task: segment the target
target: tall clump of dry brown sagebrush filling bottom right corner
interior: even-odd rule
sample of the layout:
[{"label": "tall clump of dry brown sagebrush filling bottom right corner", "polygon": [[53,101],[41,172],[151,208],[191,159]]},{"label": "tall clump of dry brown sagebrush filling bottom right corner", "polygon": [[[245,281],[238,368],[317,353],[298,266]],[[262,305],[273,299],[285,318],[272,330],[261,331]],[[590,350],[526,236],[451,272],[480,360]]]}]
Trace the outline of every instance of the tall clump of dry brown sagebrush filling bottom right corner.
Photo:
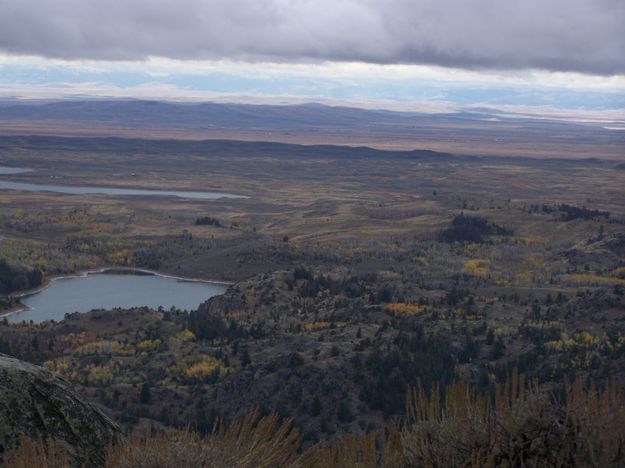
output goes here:
[{"label": "tall clump of dry brown sagebrush filling bottom right corner", "polygon": [[[603,390],[566,385],[559,404],[516,373],[494,396],[464,382],[408,396],[402,432],[405,466],[623,466],[625,396],[616,381]],[[441,398],[441,393],[444,397]]]}]

